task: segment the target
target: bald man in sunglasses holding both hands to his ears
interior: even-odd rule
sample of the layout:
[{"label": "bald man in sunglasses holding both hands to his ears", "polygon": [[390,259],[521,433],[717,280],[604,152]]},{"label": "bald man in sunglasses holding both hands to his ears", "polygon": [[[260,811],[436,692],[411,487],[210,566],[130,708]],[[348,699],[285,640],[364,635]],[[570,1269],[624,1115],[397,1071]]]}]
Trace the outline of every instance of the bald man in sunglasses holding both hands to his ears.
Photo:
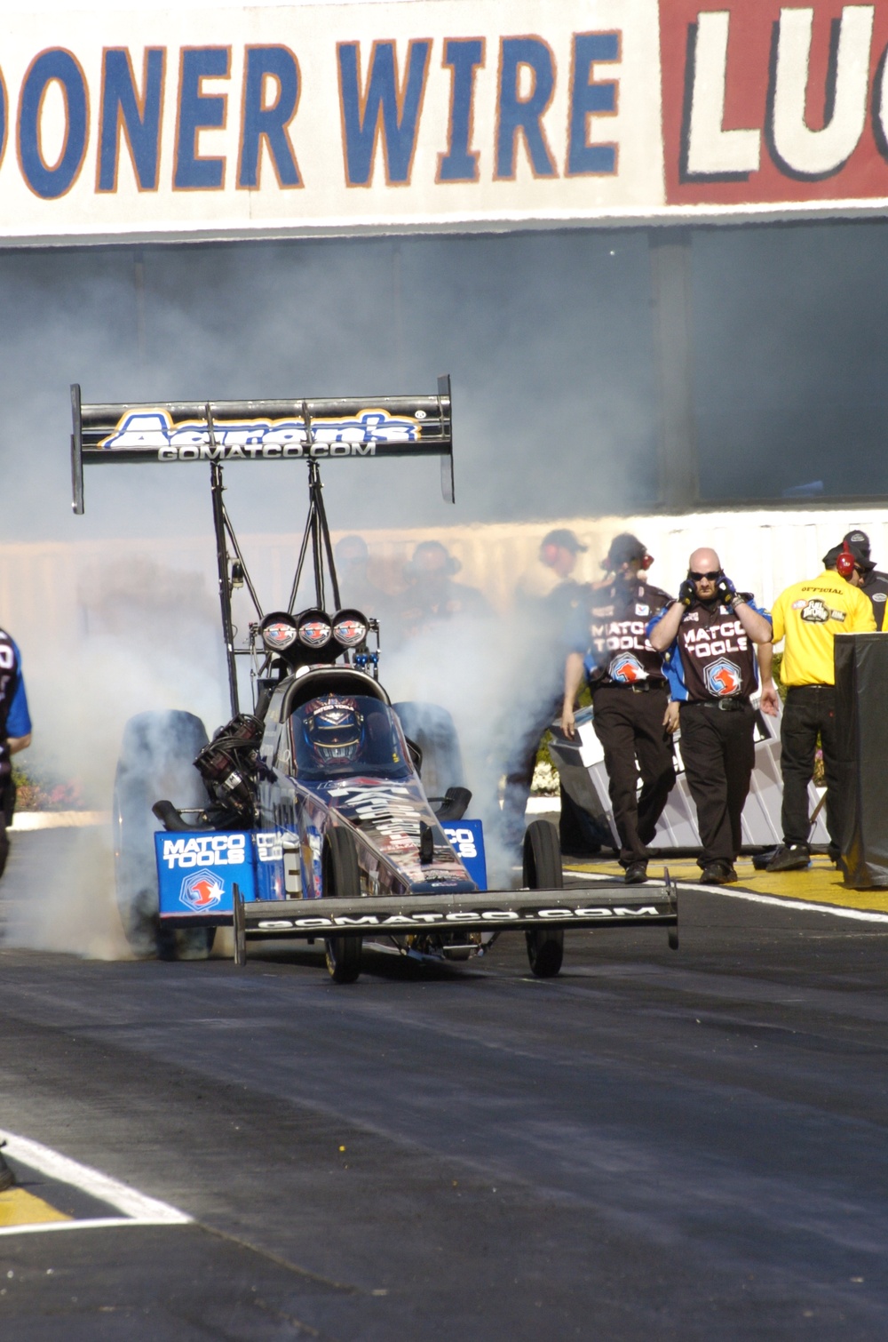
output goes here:
[{"label": "bald man in sunglasses holding both hands to his ears", "polygon": [[770,616],[738,592],[715,550],[695,550],[679,599],[648,624],[680,702],[681,758],[698,815],[700,882],[736,880],[740,816],[755,762],[755,643],[771,641]]}]

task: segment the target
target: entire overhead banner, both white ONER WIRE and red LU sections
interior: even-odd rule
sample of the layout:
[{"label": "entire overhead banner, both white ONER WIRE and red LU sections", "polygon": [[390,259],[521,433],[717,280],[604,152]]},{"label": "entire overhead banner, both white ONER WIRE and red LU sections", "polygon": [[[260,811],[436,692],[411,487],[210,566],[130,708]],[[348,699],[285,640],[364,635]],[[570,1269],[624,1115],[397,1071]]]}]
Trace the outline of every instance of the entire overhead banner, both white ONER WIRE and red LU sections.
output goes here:
[{"label": "entire overhead banner, both white ONER WIRE and red LU sections", "polygon": [[888,0],[4,19],[0,240],[885,213]]}]

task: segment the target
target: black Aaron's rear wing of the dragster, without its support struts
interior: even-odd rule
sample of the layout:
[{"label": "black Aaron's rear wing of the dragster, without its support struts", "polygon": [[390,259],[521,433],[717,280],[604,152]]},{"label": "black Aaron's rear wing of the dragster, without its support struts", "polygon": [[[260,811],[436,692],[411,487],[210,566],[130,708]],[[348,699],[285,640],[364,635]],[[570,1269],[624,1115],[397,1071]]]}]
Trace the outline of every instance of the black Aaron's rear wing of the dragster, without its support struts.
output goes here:
[{"label": "black Aaron's rear wing of the dragster, without its support struts", "polygon": [[453,502],[451,380],[432,396],[292,401],[150,401],[85,405],[71,386],[74,511],[83,513],[83,467],[180,462],[333,462],[440,456]]}]

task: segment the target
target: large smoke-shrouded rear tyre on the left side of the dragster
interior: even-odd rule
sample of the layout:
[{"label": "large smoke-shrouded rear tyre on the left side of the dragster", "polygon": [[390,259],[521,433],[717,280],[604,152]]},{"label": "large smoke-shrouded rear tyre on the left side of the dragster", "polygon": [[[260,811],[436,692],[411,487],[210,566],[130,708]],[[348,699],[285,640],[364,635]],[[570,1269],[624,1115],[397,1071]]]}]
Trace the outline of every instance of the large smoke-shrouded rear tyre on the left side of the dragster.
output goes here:
[{"label": "large smoke-shrouded rear tyre on the left side of the dragster", "polygon": [[158,824],[152,813],[161,798],[180,809],[207,805],[207,789],[193,765],[207,739],[193,713],[140,713],[123,727],[111,811],[114,887],[123,931],[137,956],[205,960],[213,943],[215,927],[173,931],[160,925]]}]

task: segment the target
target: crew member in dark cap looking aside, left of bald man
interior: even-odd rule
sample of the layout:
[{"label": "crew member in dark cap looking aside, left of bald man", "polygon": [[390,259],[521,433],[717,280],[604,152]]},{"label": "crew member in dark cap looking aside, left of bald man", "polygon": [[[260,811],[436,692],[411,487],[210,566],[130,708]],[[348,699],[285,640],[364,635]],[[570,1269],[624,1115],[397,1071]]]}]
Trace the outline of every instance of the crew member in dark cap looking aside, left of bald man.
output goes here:
[{"label": "crew member in dark cap looking aside, left of bald man", "polygon": [[585,629],[567,656],[561,719],[565,735],[573,737],[574,701],[585,674],[629,886],[648,879],[647,845],[675,784],[671,734],[677,705],[669,703],[663,659],[645,636],[648,620],[672,597],[645,581],[651,562],[637,537],[622,534],[612,542],[602,565],[610,582],[592,593]]}]

